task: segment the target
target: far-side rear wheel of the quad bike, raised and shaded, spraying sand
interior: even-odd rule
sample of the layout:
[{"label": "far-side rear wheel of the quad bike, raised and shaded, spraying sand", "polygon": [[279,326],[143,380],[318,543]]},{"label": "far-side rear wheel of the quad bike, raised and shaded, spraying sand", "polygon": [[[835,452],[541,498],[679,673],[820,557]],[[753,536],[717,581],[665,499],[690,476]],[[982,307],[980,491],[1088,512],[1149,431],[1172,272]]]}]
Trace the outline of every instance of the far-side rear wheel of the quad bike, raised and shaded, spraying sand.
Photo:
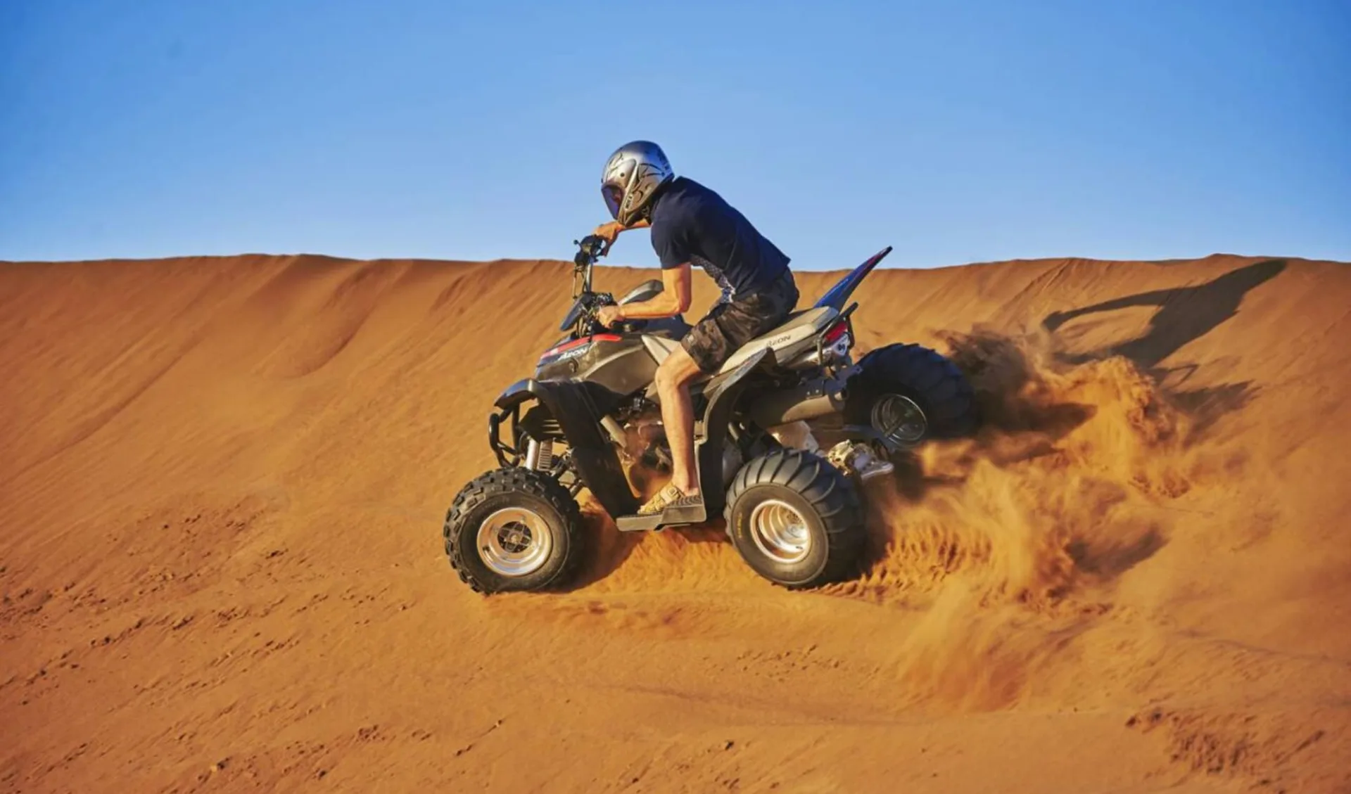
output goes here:
[{"label": "far-side rear wheel of the quad bike, raised and shaded, spraying sand", "polygon": [[844,423],[873,428],[893,450],[961,438],[979,424],[971,383],[928,347],[889,344],[865,355],[859,366],[844,401]]}]

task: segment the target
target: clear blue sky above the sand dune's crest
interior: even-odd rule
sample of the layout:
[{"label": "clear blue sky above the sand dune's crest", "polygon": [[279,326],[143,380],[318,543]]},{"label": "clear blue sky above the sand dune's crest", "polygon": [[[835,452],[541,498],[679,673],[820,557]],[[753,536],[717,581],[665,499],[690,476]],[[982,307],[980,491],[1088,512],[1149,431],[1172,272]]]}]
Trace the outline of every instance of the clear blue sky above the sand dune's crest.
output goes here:
[{"label": "clear blue sky above the sand dune's crest", "polygon": [[800,267],[1351,261],[1351,3],[0,3],[0,259],[566,258],[635,138]]}]

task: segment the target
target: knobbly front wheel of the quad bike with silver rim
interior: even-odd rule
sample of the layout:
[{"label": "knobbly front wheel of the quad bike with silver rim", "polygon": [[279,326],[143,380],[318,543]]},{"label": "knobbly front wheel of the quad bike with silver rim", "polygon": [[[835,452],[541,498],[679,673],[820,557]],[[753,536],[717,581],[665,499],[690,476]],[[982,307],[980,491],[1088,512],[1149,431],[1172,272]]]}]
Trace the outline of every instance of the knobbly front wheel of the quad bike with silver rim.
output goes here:
[{"label": "knobbly front wheel of the quad bike with silver rim", "polygon": [[471,479],[446,513],[443,535],[451,567],[480,593],[566,583],[585,552],[577,500],[531,469]]}]

